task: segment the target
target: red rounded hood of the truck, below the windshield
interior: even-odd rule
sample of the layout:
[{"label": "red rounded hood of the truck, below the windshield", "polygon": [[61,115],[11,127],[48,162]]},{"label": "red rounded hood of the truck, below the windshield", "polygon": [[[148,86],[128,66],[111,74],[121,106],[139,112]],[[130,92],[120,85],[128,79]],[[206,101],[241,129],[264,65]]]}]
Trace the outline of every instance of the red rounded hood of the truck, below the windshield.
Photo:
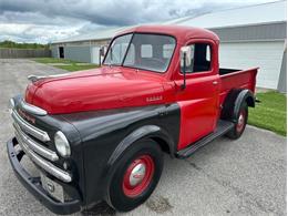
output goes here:
[{"label": "red rounded hood of the truck, below the windshield", "polygon": [[164,78],[103,66],[30,83],[25,101],[49,114],[161,104]]}]

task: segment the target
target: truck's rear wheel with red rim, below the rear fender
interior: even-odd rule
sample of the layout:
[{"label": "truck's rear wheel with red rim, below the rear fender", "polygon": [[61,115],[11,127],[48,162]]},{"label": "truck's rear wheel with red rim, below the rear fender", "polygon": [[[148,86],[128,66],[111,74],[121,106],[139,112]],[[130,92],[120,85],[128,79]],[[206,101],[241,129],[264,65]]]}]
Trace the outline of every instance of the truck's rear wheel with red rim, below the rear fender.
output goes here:
[{"label": "truck's rear wheel with red rim, below the rear fender", "polygon": [[[244,114],[244,116],[243,116],[243,114]],[[243,120],[240,120],[240,115],[243,116]],[[235,123],[233,130],[229,131],[226,134],[226,136],[228,136],[232,140],[239,138],[241,136],[243,132],[245,131],[247,120],[248,120],[248,105],[246,102],[244,102],[240,106],[239,113],[237,114],[237,123]],[[241,121],[243,121],[243,123],[240,123]]]}]

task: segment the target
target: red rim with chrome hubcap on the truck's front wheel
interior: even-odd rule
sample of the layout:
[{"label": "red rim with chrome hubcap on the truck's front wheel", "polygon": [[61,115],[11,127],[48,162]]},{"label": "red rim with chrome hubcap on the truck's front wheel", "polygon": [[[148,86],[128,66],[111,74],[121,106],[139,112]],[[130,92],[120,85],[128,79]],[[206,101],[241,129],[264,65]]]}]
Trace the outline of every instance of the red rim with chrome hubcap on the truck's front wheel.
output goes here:
[{"label": "red rim with chrome hubcap on the truck's front wheel", "polygon": [[136,197],[150,185],[155,165],[150,155],[142,155],[134,160],[126,169],[122,188],[126,196]]}]

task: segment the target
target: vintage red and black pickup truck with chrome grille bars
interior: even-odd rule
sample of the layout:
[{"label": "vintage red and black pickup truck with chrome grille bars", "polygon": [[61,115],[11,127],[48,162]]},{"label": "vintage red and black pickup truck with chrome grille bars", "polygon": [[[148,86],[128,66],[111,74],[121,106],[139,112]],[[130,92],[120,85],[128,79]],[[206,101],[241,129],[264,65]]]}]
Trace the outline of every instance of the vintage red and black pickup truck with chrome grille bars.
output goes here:
[{"label": "vintage red and black pickup truck with chrome grille bars", "polygon": [[[99,69],[30,76],[10,101],[16,175],[56,214],[101,200],[135,208],[155,189],[163,154],[185,158],[243,134],[258,69],[219,68],[218,48],[208,30],[136,27],[111,41]],[[39,176],[20,164],[24,155]]]}]

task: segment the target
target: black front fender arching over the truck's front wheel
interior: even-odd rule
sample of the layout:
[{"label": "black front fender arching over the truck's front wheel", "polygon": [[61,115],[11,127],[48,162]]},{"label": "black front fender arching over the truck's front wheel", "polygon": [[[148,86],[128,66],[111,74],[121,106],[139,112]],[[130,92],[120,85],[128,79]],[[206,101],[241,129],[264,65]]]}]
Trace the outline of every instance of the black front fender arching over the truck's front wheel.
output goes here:
[{"label": "black front fender arching over the truck's front wheel", "polygon": [[111,168],[135,141],[157,138],[174,154],[179,136],[179,112],[178,104],[174,103],[64,115],[82,140],[86,205],[105,198]]}]

